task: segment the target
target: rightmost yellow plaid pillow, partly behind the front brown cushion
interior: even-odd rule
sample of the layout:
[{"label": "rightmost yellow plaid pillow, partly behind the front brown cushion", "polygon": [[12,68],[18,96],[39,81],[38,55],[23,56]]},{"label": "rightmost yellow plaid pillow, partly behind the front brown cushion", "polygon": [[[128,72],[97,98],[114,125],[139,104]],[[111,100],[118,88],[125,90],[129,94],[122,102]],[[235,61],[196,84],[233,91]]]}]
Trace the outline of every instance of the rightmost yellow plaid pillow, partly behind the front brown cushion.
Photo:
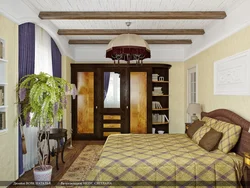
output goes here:
[{"label": "rightmost yellow plaid pillow, partly behind the front brown cushion", "polygon": [[224,121],[217,121],[212,125],[216,131],[222,132],[223,136],[219,142],[218,149],[228,153],[239,140],[241,127]]}]

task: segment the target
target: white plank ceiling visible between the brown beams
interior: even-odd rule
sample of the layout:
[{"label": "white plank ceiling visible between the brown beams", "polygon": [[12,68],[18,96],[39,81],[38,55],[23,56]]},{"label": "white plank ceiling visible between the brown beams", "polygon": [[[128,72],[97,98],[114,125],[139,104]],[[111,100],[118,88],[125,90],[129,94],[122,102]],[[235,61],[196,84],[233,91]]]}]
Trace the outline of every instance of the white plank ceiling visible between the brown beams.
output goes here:
[{"label": "white plank ceiling visible between the brown beams", "polygon": [[[226,11],[245,0],[23,0],[40,11]],[[209,29],[217,20],[130,20],[131,29]],[[51,20],[58,29],[126,29],[126,20]],[[114,36],[66,36],[112,39]],[[192,39],[197,36],[143,36],[145,39]]]}]

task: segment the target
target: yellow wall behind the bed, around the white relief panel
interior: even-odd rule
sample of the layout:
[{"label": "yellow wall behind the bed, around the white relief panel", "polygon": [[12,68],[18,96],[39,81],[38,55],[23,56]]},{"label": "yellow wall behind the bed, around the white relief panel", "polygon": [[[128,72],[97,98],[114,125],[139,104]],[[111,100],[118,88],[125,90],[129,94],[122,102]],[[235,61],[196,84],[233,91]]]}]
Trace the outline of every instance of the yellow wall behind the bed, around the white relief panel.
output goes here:
[{"label": "yellow wall behind the bed, around the white relief panel", "polygon": [[[214,62],[247,49],[250,49],[250,27],[233,34],[185,62],[185,79],[187,78],[187,69],[198,64],[198,102],[202,104],[204,111],[226,108],[250,120],[250,96],[215,96],[213,94]],[[187,82],[184,83],[186,109]]]}]

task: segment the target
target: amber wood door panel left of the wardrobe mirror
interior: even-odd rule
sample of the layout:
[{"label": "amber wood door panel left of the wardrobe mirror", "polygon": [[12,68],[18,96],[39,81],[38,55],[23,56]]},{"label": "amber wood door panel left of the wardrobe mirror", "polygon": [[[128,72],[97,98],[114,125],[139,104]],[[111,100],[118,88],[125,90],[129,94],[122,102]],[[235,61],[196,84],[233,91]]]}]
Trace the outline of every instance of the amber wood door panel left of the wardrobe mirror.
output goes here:
[{"label": "amber wood door panel left of the wardrobe mirror", "polygon": [[77,73],[77,133],[94,133],[94,72]]}]

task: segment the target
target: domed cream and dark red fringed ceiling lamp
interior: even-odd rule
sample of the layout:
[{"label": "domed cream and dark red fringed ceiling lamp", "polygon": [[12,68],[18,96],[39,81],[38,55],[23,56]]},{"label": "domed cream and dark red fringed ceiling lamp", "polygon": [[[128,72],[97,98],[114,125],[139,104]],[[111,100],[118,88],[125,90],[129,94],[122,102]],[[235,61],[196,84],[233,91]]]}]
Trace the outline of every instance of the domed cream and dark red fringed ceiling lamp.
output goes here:
[{"label": "domed cream and dark red fringed ceiling lamp", "polygon": [[[139,35],[129,34],[131,22],[126,22],[128,34],[121,34],[112,39],[106,50],[106,58],[114,60],[114,64],[120,64],[121,60],[135,60],[136,64],[143,64],[143,60],[151,57],[148,43]],[[117,61],[117,62],[116,62]]]}]

